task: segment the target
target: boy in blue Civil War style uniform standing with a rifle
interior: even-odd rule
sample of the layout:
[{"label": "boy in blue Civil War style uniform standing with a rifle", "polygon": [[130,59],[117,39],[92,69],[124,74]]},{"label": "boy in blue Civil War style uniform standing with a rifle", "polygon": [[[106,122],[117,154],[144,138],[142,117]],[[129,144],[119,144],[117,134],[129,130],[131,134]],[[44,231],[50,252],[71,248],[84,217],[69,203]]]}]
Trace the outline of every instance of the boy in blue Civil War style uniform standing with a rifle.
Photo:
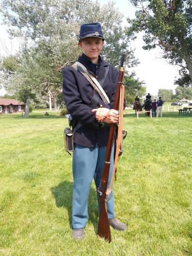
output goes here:
[{"label": "boy in blue Civil War style uniform standing with a rifle", "polygon": [[[69,113],[79,124],[74,133],[73,152],[73,201],[72,228],[73,238],[84,237],[84,227],[88,220],[87,200],[94,178],[96,188],[100,186],[104,166],[106,146],[109,135],[109,124],[118,122],[119,113],[112,109],[119,72],[100,56],[104,37],[99,23],[82,24],[80,29],[79,47],[83,50],[78,61],[97,79],[103,82],[103,89],[110,103],[105,104],[100,98],[90,107],[95,91],[88,80],[73,67],[63,70],[63,94]],[[108,71],[107,71],[108,70]],[[107,73],[106,73],[107,72]],[[114,150],[114,147],[113,147]],[[111,179],[113,171],[113,152],[111,152]],[[100,202],[98,199],[98,207]],[[117,230],[127,226],[115,218],[113,193],[107,201],[110,225]]]}]

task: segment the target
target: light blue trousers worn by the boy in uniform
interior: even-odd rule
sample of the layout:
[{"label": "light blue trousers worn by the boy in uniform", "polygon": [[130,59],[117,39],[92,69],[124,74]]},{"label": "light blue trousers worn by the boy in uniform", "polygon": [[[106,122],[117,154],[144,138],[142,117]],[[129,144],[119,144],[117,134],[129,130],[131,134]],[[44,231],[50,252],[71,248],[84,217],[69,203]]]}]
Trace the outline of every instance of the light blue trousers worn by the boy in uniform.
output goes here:
[{"label": "light blue trousers worn by the boy in uniform", "polygon": [[[114,166],[114,146],[110,157],[110,175],[108,187],[112,177]],[[72,202],[72,228],[84,228],[88,220],[88,197],[91,183],[94,178],[96,188],[100,186],[101,176],[104,167],[106,147],[85,147],[79,144],[74,145],[73,152],[73,202]],[[98,208],[100,201],[97,195]],[[107,201],[108,217],[115,217],[113,191]]]}]

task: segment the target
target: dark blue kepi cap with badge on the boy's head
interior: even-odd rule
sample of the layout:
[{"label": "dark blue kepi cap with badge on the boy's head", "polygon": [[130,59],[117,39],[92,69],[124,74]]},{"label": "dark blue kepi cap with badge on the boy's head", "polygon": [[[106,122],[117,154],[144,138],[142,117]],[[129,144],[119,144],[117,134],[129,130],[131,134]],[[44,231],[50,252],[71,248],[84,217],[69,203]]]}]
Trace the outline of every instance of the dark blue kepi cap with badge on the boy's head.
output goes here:
[{"label": "dark blue kepi cap with badge on the boy's head", "polygon": [[98,37],[102,40],[105,39],[101,30],[100,23],[87,23],[81,25],[79,42],[88,37]]}]

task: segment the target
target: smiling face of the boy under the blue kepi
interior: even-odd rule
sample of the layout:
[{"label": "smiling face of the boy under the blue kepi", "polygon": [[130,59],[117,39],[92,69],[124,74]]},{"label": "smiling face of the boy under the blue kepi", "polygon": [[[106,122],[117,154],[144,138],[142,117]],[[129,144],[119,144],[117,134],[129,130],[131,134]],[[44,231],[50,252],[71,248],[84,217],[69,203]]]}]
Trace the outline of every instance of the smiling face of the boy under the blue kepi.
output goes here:
[{"label": "smiling face of the boy under the blue kepi", "polygon": [[92,62],[98,61],[98,56],[103,47],[104,41],[97,37],[88,37],[78,43],[84,54],[91,59]]}]

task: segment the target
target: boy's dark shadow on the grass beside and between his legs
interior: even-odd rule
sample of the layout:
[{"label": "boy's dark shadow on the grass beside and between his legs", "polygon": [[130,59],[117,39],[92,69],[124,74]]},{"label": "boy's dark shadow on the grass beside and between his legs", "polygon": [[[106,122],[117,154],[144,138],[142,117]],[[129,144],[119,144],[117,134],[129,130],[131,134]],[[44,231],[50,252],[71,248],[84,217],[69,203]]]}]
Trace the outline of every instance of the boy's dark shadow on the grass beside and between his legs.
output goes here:
[{"label": "boy's dark shadow on the grass beside and between his legs", "polygon": [[[70,225],[71,225],[71,214],[72,214],[72,191],[73,191],[73,183],[69,181],[63,181],[59,183],[59,185],[51,188],[51,192],[55,198],[56,206],[58,208],[63,207],[68,210]],[[96,191],[92,187],[89,193],[88,213],[89,213],[89,222],[93,224],[95,232],[97,232],[98,204],[96,200]]]}]

